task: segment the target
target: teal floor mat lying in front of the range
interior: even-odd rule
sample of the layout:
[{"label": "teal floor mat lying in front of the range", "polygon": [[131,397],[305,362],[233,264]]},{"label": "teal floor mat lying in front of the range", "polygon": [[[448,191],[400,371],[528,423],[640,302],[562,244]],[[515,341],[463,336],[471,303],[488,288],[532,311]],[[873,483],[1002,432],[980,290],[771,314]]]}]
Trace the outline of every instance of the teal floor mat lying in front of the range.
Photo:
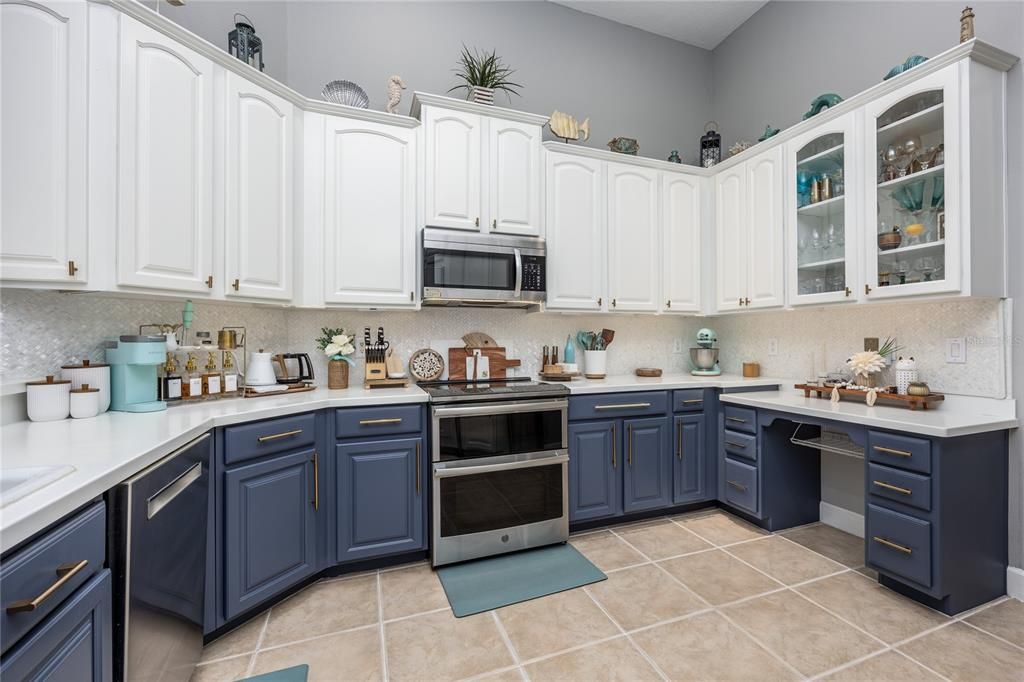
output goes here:
[{"label": "teal floor mat lying in front of the range", "polygon": [[460,619],[608,579],[568,543],[441,566],[437,577]]}]

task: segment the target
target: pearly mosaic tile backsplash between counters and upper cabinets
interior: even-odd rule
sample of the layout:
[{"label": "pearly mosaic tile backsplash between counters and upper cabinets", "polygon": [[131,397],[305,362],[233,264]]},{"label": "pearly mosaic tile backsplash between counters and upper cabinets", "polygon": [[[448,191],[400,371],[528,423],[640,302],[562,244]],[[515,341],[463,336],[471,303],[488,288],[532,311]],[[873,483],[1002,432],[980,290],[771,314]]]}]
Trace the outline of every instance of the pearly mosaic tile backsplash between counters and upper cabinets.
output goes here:
[{"label": "pearly mosaic tile backsplash between counters and upper cabinets", "polygon": [[[2,383],[33,380],[59,371],[82,357],[102,358],[102,341],[134,334],[144,323],[177,323],[180,300],[144,300],[106,295],[4,290],[0,296],[0,375]],[[518,310],[425,308],[420,311],[298,310],[273,306],[196,301],[195,329],[216,331],[225,325],[245,326],[249,349],[307,352],[318,382],[327,376],[327,360],[314,339],[322,327],[343,327],[361,339],[362,328],[384,327],[396,352],[410,354],[427,346],[444,353],[461,345],[473,331],[490,334],[510,357],[522,359],[520,375],[540,369],[542,346],[562,348],[578,330],[615,330],[608,353],[609,374],[629,374],[638,367],[658,367],[667,373],[689,369],[688,352],[673,352],[676,340],[693,345],[696,331],[718,333],[725,372],[739,373],[743,360],[758,360],[765,376],[807,378],[831,370],[862,347],[868,336],[895,336],[906,354],[918,359],[921,376],[934,390],[985,397],[1006,397],[1007,339],[1002,305],[994,300],[852,305],[677,317],[641,314],[525,313]],[[945,363],[945,339],[968,339],[967,363]],[[768,355],[768,340],[778,340],[778,354]],[[362,350],[359,348],[359,357]],[[352,375],[361,378],[361,364]]]}]

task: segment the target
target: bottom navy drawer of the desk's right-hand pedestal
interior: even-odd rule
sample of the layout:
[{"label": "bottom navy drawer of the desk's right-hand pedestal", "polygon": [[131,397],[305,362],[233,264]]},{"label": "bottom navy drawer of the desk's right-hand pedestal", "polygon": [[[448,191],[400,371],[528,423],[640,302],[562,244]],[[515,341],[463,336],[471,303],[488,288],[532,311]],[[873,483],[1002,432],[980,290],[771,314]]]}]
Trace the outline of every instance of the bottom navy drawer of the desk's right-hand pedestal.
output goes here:
[{"label": "bottom navy drawer of the desk's right-hand pedestal", "polygon": [[867,505],[867,563],[925,587],[932,587],[932,524]]}]

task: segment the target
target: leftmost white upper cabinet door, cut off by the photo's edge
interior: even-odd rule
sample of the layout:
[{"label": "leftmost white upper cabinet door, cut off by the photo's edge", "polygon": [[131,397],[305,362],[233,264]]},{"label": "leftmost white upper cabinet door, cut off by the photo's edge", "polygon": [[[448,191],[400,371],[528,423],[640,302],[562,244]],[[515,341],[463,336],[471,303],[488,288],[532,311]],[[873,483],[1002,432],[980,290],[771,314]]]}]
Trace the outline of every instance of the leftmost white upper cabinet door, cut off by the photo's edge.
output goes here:
[{"label": "leftmost white upper cabinet door, cut off by the photo's edge", "polygon": [[0,279],[87,279],[87,5],[0,3]]}]

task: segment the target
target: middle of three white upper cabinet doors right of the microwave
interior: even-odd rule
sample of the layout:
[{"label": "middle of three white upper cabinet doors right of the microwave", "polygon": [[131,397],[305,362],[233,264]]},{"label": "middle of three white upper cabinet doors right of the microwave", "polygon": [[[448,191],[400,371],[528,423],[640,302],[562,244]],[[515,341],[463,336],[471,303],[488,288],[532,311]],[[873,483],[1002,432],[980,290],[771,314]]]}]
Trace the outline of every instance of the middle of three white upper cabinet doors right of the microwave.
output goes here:
[{"label": "middle of three white upper cabinet doors right of the microwave", "polygon": [[610,310],[658,307],[658,176],[626,164],[607,164],[608,296]]}]

